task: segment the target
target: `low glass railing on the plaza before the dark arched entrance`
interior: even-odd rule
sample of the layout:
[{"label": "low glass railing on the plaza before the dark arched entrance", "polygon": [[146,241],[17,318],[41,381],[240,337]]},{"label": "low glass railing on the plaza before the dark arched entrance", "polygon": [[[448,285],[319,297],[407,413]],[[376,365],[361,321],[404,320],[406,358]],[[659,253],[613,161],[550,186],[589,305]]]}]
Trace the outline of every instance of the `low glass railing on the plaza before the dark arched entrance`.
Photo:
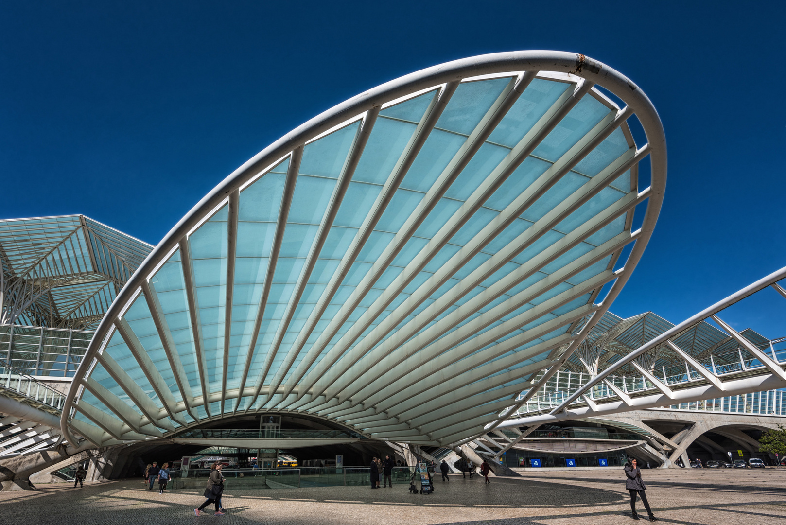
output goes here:
[{"label": "low glass railing on the plaza before the dark arched entrance", "polygon": [[[208,468],[171,472],[171,488],[204,489],[211,470]],[[393,483],[410,483],[414,467],[394,467]],[[300,467],[300,468],[224,468],[225,490],[292,489],[302,486],[370,486],[369,467]],[[382,473],[380,472],[380,481]]]}]

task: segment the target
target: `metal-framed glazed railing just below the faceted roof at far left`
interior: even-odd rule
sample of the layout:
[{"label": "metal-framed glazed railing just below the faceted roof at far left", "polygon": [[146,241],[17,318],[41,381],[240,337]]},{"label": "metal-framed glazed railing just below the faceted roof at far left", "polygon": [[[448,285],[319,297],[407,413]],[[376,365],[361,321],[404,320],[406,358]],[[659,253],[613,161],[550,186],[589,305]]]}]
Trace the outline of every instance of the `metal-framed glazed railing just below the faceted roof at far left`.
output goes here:
[{"label": "metal-framed glazed railing just below the faceted roof at far left", "polygon": [[72,377],[94,332],[0,325],[0,361],[30,376]]}]

